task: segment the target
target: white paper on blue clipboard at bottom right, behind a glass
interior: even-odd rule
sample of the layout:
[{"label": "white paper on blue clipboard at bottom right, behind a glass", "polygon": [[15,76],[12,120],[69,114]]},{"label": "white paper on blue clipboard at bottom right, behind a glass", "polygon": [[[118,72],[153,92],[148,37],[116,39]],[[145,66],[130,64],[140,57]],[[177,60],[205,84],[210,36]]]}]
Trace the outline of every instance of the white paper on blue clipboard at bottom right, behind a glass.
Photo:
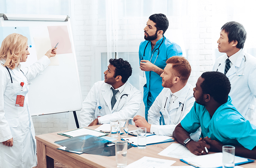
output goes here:
[{"label": "white paper on blue clipboard at bottom right, behind a glass", "polygon": [[[204,168],[215,168],[222,167],[222,153],[213,153],[207,155],[201,155],[191,158],[185,158],[183,161],[187,162],[190,165],[195,167],[204,167]],[[235,164],[248,162],[248,159],[235,156]]]}]

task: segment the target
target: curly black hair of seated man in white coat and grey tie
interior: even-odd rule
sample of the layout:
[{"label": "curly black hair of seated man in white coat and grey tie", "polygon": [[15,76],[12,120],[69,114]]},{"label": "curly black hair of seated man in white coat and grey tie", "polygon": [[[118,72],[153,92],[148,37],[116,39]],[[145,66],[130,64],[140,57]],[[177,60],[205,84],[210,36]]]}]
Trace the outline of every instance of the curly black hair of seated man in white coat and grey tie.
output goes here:
[{"label": "curly black hair of seated man in white coat and grey tie", "polygon": [[110,59],[109,63],[115,67],[114,78],[118,75],[122,77],[122,82],[125,83],[128,78],[132,75],[132,67],[128,61],[122,58]]}]

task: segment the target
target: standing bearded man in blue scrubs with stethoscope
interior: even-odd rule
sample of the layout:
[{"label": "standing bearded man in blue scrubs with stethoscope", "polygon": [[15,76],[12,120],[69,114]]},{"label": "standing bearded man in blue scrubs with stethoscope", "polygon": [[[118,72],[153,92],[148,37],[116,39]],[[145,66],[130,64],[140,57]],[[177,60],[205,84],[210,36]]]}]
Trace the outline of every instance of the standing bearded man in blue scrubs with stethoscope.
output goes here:
[{"label": "standing bearded man in blue scrubs with stethoscope", "polygon": [[172,56],[182,56],[180,46],[164,37],[168,26],[169,21],[164,14],[151,15],[144,28],[145,41],[140,44],[140,68],[145,71],[147,78],[143,95],[147,121],[148,110],[163,89],[160,75],[164,71],[167,59]]}]

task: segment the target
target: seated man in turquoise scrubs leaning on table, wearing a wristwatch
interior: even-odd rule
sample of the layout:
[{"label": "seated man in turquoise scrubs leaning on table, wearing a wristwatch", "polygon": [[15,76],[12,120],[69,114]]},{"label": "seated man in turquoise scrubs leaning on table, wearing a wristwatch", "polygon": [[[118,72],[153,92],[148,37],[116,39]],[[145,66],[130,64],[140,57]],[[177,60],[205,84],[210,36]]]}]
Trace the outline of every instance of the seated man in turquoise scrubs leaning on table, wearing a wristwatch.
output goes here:
[{"label": "seated man in turquoise scrubs leaning on table, wearing a wristwatch", "polygon": [[[173,132],[173,137],[195,155],[222,152],[223,145],[236,147],[237,156],[256,159],[256,126],[238,112],[228,95],[229,79],[221,72],[205,72],[197,80],[195,103]],[[189,134],[202,129],[198,142]]]}]

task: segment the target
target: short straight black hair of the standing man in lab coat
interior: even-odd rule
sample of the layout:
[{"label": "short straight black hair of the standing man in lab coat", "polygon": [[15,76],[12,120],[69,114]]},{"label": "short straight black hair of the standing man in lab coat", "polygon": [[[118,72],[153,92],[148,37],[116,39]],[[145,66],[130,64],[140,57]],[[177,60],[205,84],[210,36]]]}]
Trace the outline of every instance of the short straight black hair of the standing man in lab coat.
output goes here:
[{"label": "short straight black hair of the standing man in lab coat", "polygon": [[222,26],[221,30],[224,30],[228,34],[229,43],[236,40],[236,47],[239,49],[244,48],[247,33],[241,23],[234,21],[228,22]]}]

